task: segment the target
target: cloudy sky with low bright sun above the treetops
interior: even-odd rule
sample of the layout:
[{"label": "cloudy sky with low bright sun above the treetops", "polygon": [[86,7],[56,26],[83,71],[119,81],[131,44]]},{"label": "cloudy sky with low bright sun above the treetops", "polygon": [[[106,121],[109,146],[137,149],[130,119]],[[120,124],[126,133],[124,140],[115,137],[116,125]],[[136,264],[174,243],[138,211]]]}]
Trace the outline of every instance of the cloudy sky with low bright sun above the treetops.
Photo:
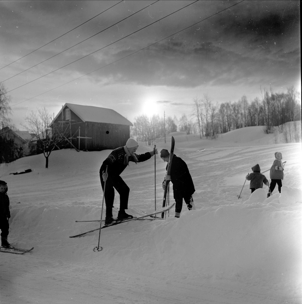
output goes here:
[{"label": "cloudy sky with low bright sun above the treetops", "polygon": [[0,1],[0,82],[21,130],[31,111],[57,115],[66,102],[133,123],[190,118],[204,94],[221,103],[300,91],[300,3]]}]

